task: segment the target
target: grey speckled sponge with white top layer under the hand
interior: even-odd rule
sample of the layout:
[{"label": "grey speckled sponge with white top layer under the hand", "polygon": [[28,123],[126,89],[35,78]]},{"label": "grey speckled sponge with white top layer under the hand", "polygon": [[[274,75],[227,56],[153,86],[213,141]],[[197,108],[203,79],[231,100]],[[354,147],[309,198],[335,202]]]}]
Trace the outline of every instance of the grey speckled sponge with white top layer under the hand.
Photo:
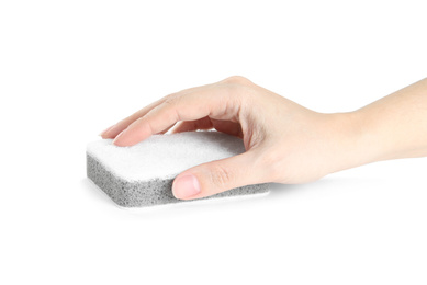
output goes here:
[{"label": "grey speckled sponge with white top layer under the hand", "polygon": [[[87,173],[120,206],[177,203],[183,201],[172,195],[171,186],[180,172],[244,151],[241,139],[218,132],[155,135],[132,147],[100,139],[87,147]],[[266,192],[268,184],[256,184],[200,200]]]}]

